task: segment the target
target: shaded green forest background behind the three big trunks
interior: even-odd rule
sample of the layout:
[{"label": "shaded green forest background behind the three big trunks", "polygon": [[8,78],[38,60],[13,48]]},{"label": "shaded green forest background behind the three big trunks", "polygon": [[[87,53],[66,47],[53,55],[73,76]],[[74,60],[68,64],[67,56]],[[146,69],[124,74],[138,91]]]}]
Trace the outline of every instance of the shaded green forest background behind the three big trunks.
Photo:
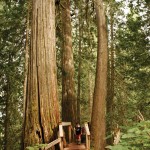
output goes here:
[{"label": "shaded green forest background behind the three big trunks", "polygon": [[[109,135],[117,124],[132,126],[140,121],[138,112],[145,120],[150,119],[150,3],[148,0],[105,0],[104,5],[109,52],[106,118]],[[56,3],[60,103],[62,7],[61,2]],[[96,14],[92,0],[71,0],[70,8],[75,95],[79,97],[82,124],[91,120],[97,58]],[[28,1],[0,1],[0,149],[7,145],[7,150],[17,150],[21,145],[28,13]]]}]

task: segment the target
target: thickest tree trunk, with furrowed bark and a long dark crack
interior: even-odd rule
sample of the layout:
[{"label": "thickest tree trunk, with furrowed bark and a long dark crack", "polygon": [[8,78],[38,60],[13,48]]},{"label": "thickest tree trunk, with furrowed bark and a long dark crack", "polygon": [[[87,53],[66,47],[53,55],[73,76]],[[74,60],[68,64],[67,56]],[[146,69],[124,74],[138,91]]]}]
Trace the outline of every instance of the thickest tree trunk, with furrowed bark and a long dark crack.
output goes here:
[{"label": "thickest tree trunk, with furrowed bark and a long dark crack", "polygon": [[32,1],[31,31],[24,149],[53,140],[59,122],[54,0]]}]

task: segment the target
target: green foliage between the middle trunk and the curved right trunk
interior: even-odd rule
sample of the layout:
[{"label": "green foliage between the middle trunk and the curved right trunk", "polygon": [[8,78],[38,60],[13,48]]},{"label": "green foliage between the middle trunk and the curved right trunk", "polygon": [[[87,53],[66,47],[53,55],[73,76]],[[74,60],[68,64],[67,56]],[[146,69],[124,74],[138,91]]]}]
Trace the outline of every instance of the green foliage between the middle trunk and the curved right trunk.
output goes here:
[{"label": "green foliage between the middle trunk and the curved right trunk", "polygon": [[[78,65],[81,63],[80,71],[80,108],[81,122],[90,120],[90,101],[94,90],[95,68],[97,57],[97,28],[95,24],[95,10],[92,0],[85,3],[82,0],[74,2],[72,6],[76,15],[72,17],[73,25],[73,50],[75,61],[75,83],[78,85]],[[80,46],[79,46],[80,42]],[[81,55],[79,56],[79,47]],[[80,61],[80,62],[79,62]],[[78,90],[76,90],[78,91]],[[90,92],[90,93],[89,93]],[[77,92],[76,92],[77,93]],[[91,97],[90,97],[91,96]]]}]

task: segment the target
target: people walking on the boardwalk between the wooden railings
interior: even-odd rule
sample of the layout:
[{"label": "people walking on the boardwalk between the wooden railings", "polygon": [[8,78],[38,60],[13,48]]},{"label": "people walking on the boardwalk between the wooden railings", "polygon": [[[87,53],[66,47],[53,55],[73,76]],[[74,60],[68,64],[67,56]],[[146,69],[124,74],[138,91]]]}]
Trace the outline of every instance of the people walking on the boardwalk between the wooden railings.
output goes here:
[{"label": "people walking on the boardwalk between the wooden railings", "polygon": [[75,130],[75,139],[77,144],[85,142],[85,128],[81,127],[79,123],[76,123],[74,128]]}]

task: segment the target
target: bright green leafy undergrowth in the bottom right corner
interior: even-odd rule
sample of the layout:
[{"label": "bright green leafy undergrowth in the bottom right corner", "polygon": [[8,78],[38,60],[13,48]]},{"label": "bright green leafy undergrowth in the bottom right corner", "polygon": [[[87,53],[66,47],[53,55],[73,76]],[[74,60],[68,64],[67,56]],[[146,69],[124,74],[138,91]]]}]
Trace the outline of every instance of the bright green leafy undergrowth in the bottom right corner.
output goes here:
[{"label": "bright green leafy undergrowth in the bottom right corner", "polygon": [[110,150],[150,150],[150,121],[141,121],[131,127],[123,128],[118,145],[107,146]]}]

